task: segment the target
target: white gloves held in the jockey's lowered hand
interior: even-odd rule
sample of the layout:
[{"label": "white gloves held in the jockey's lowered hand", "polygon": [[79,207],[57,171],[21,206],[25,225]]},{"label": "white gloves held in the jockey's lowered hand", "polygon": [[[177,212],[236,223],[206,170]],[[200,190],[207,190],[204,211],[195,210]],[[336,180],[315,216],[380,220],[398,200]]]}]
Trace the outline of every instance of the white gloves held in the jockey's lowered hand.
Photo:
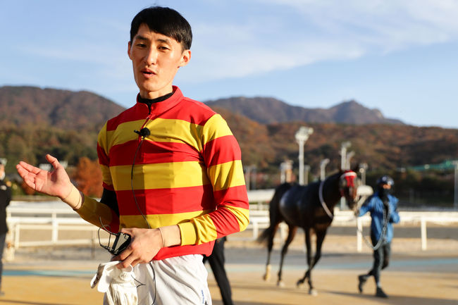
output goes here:
[{"label": "white gloves held in the jockey's lowered hand", "polygon": [[137,305],[137,286],[133,267],[118,269],[120,261],[101,263],[97,274],[91,280],[91,288],[97,283],[97,290],[104,292],[104,305]]}]

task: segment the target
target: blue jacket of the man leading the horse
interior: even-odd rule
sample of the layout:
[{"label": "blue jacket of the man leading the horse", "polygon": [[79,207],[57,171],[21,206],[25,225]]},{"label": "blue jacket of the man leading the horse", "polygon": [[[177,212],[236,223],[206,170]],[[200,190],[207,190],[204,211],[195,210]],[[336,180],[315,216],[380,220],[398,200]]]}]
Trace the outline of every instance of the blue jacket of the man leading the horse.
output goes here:
[{"label": "blue jacket of the man leading the horse", "polygon": [[[392,235],[393,235],[393,228],[392,223],[399,223],[400,216],[397,213],[397,198],[388,195],[388,203],[390,204],[390,218],[388,221],[388,227],[386,228],[385,232],[385,240],[386,242],[391,242]],[[373,194],[369,197],[366,202],[359,208],[359,215],[363,216],[367,212],[371,212],[371,234],[376,237],[376,239],[380,239],[380,235],[382,234],[383,230],[383,201],[378,197],[378,192]]]}]

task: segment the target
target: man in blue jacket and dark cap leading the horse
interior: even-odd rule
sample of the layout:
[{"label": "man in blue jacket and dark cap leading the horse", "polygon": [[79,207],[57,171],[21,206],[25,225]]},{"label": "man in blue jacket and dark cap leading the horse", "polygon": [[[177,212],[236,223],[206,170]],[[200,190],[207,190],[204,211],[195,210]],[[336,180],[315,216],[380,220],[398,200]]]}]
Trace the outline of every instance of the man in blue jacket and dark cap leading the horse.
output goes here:
[{"label": "man in blue jacket and dark cap leading the horse", "polygon": [[369,197],[359,209],[358,217],[371,212],[371,241],[373,244],[373,267],[369,273],[359,275],[358,290],[363,292],[363,286],[372,275],[376,282],[376,297],[387,298],[388,295],[380,284],[380,271],[388,266],[390,261],[391,240],[393,237],[392,223],[399,223],[397,213],[397,198],[390,194],[395,182],[388,175],[377,180],[377,192]]}]

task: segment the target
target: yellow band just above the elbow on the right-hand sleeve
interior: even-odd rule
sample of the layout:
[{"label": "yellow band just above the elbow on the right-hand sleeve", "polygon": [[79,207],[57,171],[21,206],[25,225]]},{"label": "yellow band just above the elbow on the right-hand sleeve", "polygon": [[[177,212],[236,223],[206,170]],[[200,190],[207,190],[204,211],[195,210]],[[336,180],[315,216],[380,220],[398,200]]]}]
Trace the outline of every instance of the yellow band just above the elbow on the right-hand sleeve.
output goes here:
[{"label": "yellow band just above the elbow on the right-hand sleeve", "polygon": [[209,177],[211,177],[213,189],[219,191],[228,189],[229,187],[238,187],[245,185],[245,177],[243,177],[242,161],[235,160],[226,163],[216,164],[208,169]]}]

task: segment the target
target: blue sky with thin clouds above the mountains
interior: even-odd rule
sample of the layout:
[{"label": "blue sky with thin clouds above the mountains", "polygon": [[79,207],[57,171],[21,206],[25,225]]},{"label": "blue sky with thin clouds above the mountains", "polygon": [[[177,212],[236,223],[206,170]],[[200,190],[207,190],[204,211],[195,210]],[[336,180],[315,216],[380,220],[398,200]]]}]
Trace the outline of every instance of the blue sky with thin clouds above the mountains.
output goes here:
[{"label": "blue sky with thin clouds above the mountains", "polygon": [[419,126],[458,128],[458,1],[0,0],[0,86],[88,90],[128,107],[130,21],[170,6],[192,25],[187,97],[354,99]]}]

